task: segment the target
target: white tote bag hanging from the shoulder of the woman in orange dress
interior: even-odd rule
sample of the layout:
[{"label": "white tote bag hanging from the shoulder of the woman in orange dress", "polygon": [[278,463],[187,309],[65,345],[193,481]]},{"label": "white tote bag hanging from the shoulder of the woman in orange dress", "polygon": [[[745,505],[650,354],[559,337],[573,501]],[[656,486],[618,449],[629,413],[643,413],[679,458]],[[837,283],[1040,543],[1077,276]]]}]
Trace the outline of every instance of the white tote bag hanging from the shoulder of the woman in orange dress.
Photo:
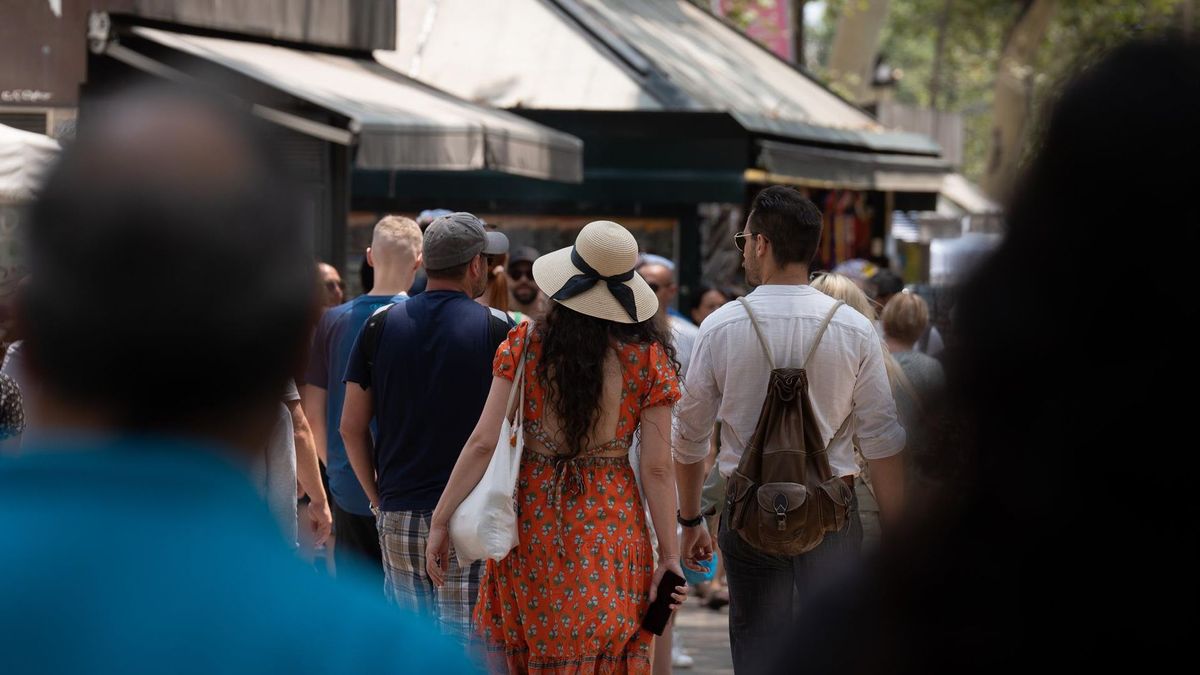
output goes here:
[{"label": "white tote bag hanging from the shoulder of the woman in orange dress", "polygon": [[[521,452],[524,448],[524,364],[522,352],[509,402],[504,406],[504,424],[500,438],[487,471],[458,504],[450,518],[450,540],[454,543],[458,565],[466,567],[476,560],[504,560],[517,545],[517,512],[515,492],[521,471]],[[518,395],[520,392],[520,395]],[[512,400],[517,399],[514,420],[509,422]]]}]

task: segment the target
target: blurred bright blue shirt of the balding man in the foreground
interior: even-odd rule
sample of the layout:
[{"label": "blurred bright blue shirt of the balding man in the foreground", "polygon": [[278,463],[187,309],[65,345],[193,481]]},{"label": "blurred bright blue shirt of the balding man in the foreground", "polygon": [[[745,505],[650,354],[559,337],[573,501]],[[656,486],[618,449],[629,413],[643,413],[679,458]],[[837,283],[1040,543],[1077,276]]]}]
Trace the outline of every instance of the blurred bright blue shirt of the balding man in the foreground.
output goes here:
[{"label": "blurred bright blue shirt of the balding man in the foreground", "polygon": [[0,458],[6,673],[475,673],[432,620],[306,567],[220,450],[24,452]]}]

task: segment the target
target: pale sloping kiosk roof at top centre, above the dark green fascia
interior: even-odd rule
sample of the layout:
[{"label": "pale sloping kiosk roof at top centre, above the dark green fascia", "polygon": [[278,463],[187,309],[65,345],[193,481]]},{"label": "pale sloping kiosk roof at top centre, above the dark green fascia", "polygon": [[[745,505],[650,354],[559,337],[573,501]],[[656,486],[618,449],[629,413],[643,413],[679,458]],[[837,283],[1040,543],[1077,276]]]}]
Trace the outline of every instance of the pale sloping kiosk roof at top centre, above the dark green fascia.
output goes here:
[{"label": "pale sloping kiosk roof at top centre, above the dark green fascia", "polygon": [[690,0],[404,0],[380,62],[473,101],[724,112],[793,142],[936,155]]}]

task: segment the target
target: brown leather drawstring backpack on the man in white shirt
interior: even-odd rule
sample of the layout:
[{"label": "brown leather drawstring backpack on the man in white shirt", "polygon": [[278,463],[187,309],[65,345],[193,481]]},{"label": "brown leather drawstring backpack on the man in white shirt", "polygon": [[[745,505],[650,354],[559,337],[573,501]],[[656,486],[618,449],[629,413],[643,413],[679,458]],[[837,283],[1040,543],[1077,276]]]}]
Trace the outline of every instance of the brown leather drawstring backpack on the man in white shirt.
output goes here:
[{"label": "brown leather drawstring backpack on the man in white shirt", "polygon": [[[826,532],[836,532],[846,525],[854,497],[850,485],[834,476],[829,466],[828,444],[812,414],[805,370],[842,303],[838,301],[821,323],[800,368],[775,368],[750,303],[738,299],[767,352],[770,378],[754,436],[730,476],[726,492],[732,506],[730,527],[762,552],[800,555],[821,544]],[[841,436],[848,425],[850,416],[833,437]]]}]

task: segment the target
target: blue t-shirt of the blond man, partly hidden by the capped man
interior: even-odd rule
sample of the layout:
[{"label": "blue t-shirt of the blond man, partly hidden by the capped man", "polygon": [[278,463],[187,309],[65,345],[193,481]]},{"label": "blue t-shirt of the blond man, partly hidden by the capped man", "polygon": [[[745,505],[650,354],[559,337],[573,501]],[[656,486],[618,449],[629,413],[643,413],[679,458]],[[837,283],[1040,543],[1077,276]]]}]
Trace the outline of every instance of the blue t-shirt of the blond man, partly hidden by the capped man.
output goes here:
[{"label": "blue t-shirt of the blond man, partly hidden by the capped man", "polygon": [[359,295],[349,303],[330,309],[320,317],[312,336],[306,382],[326,390],[325,395],[325,470],[329,474],[329,491],[334,501],[347,513],[371,515],[371,502],[359,484],[350,460],[346,456],[346,444],[338,429],[342,423],[342,402],[346,400],[346,364],[362,324],[379,307],[391,303],[403,303],[408,297]]}]

